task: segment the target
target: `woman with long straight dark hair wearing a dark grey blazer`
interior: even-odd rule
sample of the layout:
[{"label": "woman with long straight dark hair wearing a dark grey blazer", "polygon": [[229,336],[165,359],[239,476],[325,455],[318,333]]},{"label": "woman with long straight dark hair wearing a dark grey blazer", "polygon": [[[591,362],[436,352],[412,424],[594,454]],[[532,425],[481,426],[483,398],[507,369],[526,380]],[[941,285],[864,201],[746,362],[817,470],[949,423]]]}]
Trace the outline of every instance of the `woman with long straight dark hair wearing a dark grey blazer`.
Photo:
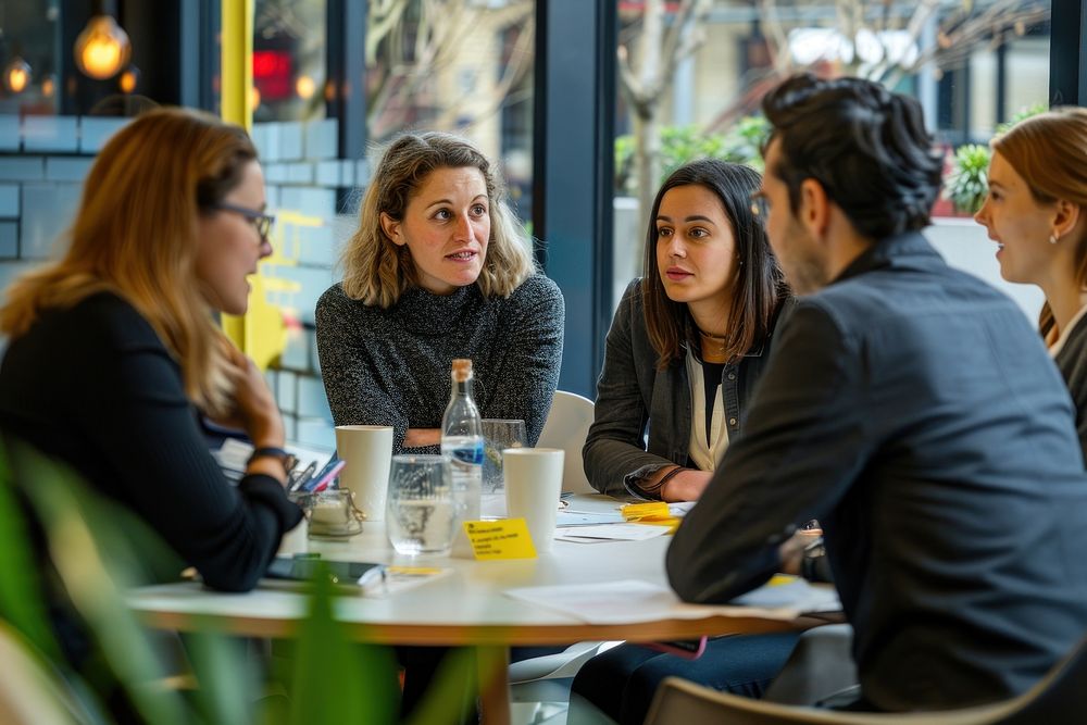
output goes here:
[{"label": "woman with long straight dark hair wearing a dark grey blazer", "polygon": [[623,295],[597,383],[584,450],[597,490],[697,500],[740,435],[788,296],[752,205],[759,184],[701,160],[658,191],[645,277]]}]

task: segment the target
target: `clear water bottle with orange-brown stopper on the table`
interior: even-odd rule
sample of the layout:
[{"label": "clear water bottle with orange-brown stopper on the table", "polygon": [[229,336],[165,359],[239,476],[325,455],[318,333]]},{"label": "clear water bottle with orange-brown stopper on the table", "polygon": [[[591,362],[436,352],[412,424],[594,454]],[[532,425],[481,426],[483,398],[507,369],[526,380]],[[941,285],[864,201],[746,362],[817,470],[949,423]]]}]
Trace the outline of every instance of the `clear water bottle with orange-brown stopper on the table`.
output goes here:
[{"label": "clear water bottle with orange-brown stopper on the table", "polygon": [[452,392],[441,416],[441,454],[452,470],[458,517],[476,521],[483,491],[483,423],[472,399],[472,361],[454,360],[450,375]]}]

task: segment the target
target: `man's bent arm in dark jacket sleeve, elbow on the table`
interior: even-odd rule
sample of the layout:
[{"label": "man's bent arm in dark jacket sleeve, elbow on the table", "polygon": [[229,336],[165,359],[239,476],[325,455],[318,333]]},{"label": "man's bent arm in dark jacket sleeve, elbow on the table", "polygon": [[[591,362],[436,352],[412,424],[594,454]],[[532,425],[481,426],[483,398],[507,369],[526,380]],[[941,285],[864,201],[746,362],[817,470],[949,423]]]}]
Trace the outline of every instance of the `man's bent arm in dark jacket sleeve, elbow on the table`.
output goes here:
[{"label": "man's bent arm in dark jacket sleeve, elbow on the table", "polygon": [[866,460],[855,340],[811,302],[778,334],[744,437],[669,549],[669,578],[687,601],[726,602],[764,584],[791,559],[796,527],[825,518]]}]

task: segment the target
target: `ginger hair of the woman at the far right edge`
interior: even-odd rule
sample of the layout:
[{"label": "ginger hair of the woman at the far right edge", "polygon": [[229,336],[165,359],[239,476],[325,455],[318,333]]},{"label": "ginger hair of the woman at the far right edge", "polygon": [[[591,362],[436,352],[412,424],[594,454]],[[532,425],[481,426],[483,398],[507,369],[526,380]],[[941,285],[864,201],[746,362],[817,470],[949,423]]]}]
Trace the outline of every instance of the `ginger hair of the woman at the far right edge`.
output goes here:
[{"label": "ginger hair of the woman at the far right edge", "polygon": [[[1087,109],[1057,108],[1025,118],[995,138],[992,150],[1023,177],[1038,203],[1063,199],[1087,212]],[[1087,238],[1075,252],[1076,283],[1087,288]],[[1054,324],[1047,301],[1038,327],[1046,335]]]}]

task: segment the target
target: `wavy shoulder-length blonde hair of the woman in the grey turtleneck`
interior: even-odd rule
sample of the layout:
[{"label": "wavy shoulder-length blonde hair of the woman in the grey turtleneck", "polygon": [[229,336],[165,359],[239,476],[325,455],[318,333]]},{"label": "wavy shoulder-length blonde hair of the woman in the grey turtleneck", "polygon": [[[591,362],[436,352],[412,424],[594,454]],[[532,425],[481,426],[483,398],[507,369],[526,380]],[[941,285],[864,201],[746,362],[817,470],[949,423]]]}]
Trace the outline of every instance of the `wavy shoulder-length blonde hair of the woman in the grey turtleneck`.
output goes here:
[{"label": "wavy shoulder-length blonde hair of the woman in the grey turtleneck", "polygon": [[490,239],[476,285],[486,297],[508,297],[535,271],[529,241],[505,203],[505,187],[490,162],[463,138],[440,132],[404,134],[382,155],[359,210],[359,228],[343,247],[343,292],[388,309],[418,274],[408,248],[385,236],[382,212],[402,221],[408,202],[437,168],[478,168],[487,184]]}]

